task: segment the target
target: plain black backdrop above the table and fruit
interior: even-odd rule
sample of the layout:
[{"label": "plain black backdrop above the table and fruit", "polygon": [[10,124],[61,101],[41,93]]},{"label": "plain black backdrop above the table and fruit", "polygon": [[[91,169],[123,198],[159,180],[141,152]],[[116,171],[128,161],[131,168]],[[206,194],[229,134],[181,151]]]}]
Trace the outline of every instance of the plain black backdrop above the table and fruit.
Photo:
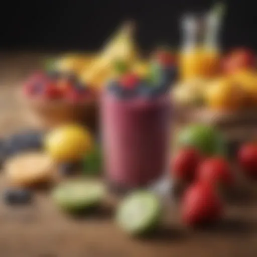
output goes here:
[{"label": "plain black backdrop above the table and fruit", "polygon": [[[221,33],[223,48],[248,46],[257,50],[255,0],[231,0]],[[157,44],[178,46],[179,17],[203,11],[208,0],[84,0],[2,1],[2,50],[94,50],[124,19],[136,19],[143,50]],[[5,3],[5,4],[4,4]]]}]

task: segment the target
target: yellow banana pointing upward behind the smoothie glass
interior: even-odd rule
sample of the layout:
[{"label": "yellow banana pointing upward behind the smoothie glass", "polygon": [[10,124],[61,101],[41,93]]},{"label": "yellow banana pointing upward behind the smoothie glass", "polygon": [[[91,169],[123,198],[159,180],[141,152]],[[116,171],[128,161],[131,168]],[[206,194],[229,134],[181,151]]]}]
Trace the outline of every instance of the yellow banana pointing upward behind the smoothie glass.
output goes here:
[{"label": "yellow banana pointing upward behind the smoothie glass", "polygon": [[138,58],[138,51],[133,41],[133,33],[134,25],[132,23],[124,24],[114,38],[107,42],[90,67],[82,71],[82,82],[101,87],[112,76],[112,63],[115,60],[134,62]]}]

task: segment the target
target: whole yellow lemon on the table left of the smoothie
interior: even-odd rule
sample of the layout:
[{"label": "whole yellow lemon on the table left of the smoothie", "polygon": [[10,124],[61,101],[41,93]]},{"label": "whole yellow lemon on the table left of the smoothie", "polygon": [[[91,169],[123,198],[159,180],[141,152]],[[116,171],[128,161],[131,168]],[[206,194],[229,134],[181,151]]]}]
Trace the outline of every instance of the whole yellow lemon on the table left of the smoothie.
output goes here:
[{"label": "whole yellow lemon on the table left of the smoothie", "polygon": [[76,124],[59,127],[45,139],[46,151],[57,162],[80,160],[92,147],[90,133]]}]

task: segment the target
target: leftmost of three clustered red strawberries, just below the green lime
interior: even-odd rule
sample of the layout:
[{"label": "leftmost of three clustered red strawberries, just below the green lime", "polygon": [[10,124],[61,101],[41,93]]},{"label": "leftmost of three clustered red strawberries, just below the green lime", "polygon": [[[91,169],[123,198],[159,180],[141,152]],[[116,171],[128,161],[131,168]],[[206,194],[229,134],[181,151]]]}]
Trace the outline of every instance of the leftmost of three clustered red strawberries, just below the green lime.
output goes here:
[{"label": "leftmost of three clustered red strawberries, just below the green lime", "polygon": [[181,181],[192,181],[201,159],[202,156],[198,150],[193,148],[181,149],[173,160],[172,175]]}]

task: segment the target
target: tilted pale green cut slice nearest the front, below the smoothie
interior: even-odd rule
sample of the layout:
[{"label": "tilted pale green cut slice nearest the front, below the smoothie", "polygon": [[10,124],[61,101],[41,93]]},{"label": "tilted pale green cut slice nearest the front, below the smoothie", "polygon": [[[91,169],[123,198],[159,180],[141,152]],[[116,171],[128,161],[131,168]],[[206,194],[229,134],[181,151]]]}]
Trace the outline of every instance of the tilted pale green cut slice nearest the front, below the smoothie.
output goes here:
[{"label": "tilted pale green cut slice nearest the front, below the smoothie", "polygon": [[161,220],[162,207],[150,191],[138,191],[127,196],[118,206],[116,221],[121,229],[133,235],[155,229]]}]

